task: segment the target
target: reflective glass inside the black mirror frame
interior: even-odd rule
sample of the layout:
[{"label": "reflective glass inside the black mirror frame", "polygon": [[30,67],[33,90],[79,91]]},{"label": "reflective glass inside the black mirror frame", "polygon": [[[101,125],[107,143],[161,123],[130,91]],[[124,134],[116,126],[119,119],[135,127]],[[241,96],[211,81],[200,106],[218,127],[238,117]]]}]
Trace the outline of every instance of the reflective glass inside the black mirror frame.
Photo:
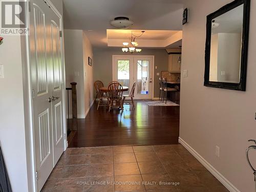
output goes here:
[{"label": "reflective glass inside the black mirror frame", "polygon": [[240,82],[244,4],[211,20],[209,81]]}]

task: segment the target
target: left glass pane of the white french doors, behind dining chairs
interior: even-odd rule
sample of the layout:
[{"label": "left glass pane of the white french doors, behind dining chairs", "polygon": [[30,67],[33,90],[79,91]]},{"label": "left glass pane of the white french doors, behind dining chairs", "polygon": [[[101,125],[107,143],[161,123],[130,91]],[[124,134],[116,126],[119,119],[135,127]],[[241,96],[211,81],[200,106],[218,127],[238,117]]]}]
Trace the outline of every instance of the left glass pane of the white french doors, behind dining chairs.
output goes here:
[{"label": "left glass pane of the white french doors, behind dining chairs", "polygon": [[[130,60],[117,60],[117,81],[122,86],[130,86]],[[129,94],[129,91],[123,94]]]}]

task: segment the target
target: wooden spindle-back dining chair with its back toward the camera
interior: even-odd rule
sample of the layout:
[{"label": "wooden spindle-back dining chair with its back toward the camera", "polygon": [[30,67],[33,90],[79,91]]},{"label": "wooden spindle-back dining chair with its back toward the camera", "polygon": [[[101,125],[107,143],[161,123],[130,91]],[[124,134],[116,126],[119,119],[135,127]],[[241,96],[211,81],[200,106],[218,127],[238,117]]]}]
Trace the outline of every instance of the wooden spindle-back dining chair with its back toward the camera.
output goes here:
[{"label": "wooden spindle-back dining chair with its back toward the camera", "polygon": [[114,106],[114,101],[116,102],[115,106],[119,106],[123,112],[123,105],[122,105],[122,97],[123,97],[123,87],[118,82],[113,82],[109,85],[109,112]]}]

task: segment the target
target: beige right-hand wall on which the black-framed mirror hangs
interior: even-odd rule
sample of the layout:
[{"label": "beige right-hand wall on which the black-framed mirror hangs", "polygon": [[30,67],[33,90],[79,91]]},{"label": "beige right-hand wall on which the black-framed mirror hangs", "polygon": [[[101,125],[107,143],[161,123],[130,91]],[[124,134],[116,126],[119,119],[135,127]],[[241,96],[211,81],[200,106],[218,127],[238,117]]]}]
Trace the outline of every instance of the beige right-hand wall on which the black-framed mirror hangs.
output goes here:
[{"label": "beige right-hand wall on which the black-framed mirror hangs", "polygon": [[[248,139],[256,138],[256,2],[251,1],[246,92],[204,87],[206,15],[231,0],[190,0],[183,26],[180,137],[240,191],[252,192],[253,174],[246,158]],[[195,51],[196,50],[196,51]],[[220,147],[220,158],[215,147]],[[253,154],[253,153],[252,153]],[[255,164],[255,156],[252,157]]]}]

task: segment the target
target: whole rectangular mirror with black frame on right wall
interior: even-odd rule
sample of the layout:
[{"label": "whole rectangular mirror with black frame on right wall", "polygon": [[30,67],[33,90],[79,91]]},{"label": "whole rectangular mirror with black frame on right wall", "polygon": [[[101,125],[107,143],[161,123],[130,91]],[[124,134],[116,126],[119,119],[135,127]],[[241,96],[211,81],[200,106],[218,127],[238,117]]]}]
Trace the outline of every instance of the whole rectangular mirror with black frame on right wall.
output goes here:
[{"label": "whole rectangular mirror with black frame on right wall", "polygon": [[250,0],[207,16],[204,86],[245,91]]}]

